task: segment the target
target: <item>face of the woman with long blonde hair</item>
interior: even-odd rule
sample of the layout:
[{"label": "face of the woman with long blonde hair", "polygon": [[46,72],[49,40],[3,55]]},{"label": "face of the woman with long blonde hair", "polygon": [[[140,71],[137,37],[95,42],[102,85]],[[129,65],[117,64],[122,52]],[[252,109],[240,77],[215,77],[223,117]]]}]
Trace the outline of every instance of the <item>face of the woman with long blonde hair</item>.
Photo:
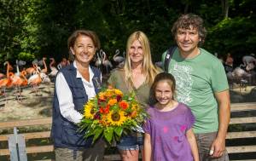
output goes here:
[{"label": "face of the woman with long blonde hair", "polygon": [[129,49],[129,57],[131,59],[131,64],[143,62],[143,46],[138,40],[135,40],[133,43],[131,43],[131,47]]}]

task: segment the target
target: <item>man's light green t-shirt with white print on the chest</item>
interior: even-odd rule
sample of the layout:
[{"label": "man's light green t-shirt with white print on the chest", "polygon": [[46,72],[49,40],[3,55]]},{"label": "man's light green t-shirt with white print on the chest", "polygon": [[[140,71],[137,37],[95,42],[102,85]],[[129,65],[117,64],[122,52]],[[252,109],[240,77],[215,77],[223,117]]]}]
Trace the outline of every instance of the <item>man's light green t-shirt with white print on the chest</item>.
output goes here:
[{"label": "man's light green t-shirt with white print on the chest", "polygon": [[[195,133],[218,131],[218,103],[214,93],[229,89],[224,66],[205,49],[192,59],[184,60],[178,49],[172,55],[168,72],[177,83],[176,99],[191,108],[196,121]],[[162,55],[164,62],[166,53]]]}]

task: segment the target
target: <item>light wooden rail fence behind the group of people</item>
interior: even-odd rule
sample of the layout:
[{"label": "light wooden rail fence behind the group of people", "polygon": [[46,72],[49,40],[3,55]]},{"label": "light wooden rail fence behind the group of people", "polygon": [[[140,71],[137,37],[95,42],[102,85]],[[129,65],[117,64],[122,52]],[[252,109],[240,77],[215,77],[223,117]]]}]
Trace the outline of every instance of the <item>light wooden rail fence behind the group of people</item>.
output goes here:
[{"label": "light wooden rail fence behind the group of people", "polygon": [[[231,112],[245,112],[256,110],[255,103],[236,103],[231,105]],[[231,118],[230,124],[255,124],[256,117],[246,117],[246,118]],[[30,120],[19,120],[19,121],[9,121],[0,123],[0,129],[13,129],[14,127],[20,128],[24,126],[35,126],[35,125],[45,125],[51,124],[51,118],[40,118],[40,119],[30,119]],[[256,125],[255,125],[256,126]],[[10,135],[10,134],[9,134]],[[9,135],[0,135],[1,141],[8,141]],[[22,134],[25,140],[30,139],[44,139],[49,138],[50,132],[33,132]],[[240,131],[240,132],[229,132],[227,135],[227,140],[237,139],[237,138],[255,138],[256,130],[253,131]],[[26,147],[26,153],[40,153],[40,152],[53,152],[54,147],[52,145],[47,146],[36,146],[36,147]],[[256,142],[251,146],[236,146],[227,147],[229,153],[241,153],[241,152],[256,152]],[[0,156],[9,155],[9,149],[0,149]],[[105,155],[104,160],[120,160],[119,154]],[[256,161],[256,157],[247,161]]]}]

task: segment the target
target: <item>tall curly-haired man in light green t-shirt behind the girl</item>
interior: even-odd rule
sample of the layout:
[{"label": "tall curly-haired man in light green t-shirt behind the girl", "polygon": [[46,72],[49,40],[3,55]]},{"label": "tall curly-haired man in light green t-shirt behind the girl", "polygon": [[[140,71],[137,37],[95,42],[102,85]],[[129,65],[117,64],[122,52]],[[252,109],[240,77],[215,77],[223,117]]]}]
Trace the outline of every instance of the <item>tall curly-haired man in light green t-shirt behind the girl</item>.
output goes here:
[{"label": "tall curly-haired man in light green t-shirt behind the girl", "polygon": [[[180,16],[172,26],[177,49],[167,67],[177,82],[177,101],[188,105],[195,115],[193,129],[201,161],[224,161],[229,160],[225,151],[230,122],[229,85],[222,63],[199,47],[206,33],[198,15]],[[162,61],[165,59],[166,52]]]}]

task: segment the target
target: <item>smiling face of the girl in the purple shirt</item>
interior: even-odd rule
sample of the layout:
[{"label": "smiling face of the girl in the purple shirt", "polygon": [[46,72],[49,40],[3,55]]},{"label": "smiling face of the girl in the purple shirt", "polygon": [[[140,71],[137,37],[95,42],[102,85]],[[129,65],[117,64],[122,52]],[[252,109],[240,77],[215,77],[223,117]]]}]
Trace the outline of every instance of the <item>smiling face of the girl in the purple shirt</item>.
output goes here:
[{"label": "smiling face of the girl in the purple shirt", "polygon": [[154,95],[160,106],[168,106],[172,103],[172,88],[166,80],[161,80],[155,86]]}]

